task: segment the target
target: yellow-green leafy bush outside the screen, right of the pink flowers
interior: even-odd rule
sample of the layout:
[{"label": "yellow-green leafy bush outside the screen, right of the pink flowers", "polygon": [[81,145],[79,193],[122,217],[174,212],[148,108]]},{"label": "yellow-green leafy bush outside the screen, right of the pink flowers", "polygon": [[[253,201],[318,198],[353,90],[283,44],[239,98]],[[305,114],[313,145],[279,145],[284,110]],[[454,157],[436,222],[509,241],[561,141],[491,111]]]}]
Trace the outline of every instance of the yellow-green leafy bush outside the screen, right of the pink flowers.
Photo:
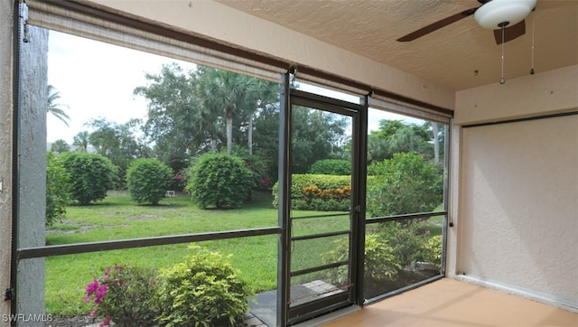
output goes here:
[{"label": "yellow-green leafy bush outside the screen, right of the pink flowers", "polygon": [[162,272],[159,285],[163,326],[223,326],[244,320],[253,295],[228,258],[192,245],[183,263]]}]

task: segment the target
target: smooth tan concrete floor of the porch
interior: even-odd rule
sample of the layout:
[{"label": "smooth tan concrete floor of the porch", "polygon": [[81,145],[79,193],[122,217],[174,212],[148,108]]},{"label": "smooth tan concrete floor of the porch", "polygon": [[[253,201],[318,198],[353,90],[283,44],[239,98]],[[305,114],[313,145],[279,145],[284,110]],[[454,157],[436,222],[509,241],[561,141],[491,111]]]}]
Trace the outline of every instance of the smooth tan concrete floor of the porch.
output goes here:
[{"label": "smooth tan concrete floor of the porch", "polygon": [[[325,317],[328,318],[328,317]],[[519,296],[443,278],[370,304],[322,327],[578,326],[571,313]]]}]

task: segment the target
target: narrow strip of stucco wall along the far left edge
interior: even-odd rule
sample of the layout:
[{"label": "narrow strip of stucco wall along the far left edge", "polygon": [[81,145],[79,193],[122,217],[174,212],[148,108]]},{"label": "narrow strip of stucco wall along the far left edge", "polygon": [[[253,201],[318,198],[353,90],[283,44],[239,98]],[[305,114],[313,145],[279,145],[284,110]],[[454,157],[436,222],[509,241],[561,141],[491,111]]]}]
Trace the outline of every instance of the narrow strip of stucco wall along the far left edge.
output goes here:
[{"label": "narrow strip of stucco wall along the far left edge", "polygon": [[0,0],[0,326],[10,314],[4,290],[10,285],[10,235],[12,230],[12,0]]}]

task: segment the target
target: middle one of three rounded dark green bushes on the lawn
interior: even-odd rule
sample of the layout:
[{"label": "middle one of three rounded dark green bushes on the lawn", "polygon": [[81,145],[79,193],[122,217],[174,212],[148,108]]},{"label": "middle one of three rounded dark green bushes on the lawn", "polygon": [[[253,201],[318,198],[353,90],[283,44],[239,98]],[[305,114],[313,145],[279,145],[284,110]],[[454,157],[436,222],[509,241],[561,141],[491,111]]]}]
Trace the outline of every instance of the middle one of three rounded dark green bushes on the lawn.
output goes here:
[{"label": "middle one of three rounded dark green bushes on the lawn", "polygon": [[172,169],[156,159],[136,159],[126,171],[126,186],[137,203],[159,204],[172,182]]}]

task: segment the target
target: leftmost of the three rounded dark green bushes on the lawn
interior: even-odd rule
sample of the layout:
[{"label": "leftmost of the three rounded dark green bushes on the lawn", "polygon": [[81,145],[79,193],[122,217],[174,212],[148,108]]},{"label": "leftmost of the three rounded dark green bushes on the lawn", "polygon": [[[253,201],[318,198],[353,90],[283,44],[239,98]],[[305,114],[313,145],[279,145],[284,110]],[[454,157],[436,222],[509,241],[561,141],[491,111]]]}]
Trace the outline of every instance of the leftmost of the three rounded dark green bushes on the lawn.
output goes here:
[{"label": "leftmost of the three rounded dark green bushes on the lawn", "polygon": [[70,173],[70,198],[80,205],[103,200],[115,185],[117,169],[100,154],[67,153],[64,167]]}]

